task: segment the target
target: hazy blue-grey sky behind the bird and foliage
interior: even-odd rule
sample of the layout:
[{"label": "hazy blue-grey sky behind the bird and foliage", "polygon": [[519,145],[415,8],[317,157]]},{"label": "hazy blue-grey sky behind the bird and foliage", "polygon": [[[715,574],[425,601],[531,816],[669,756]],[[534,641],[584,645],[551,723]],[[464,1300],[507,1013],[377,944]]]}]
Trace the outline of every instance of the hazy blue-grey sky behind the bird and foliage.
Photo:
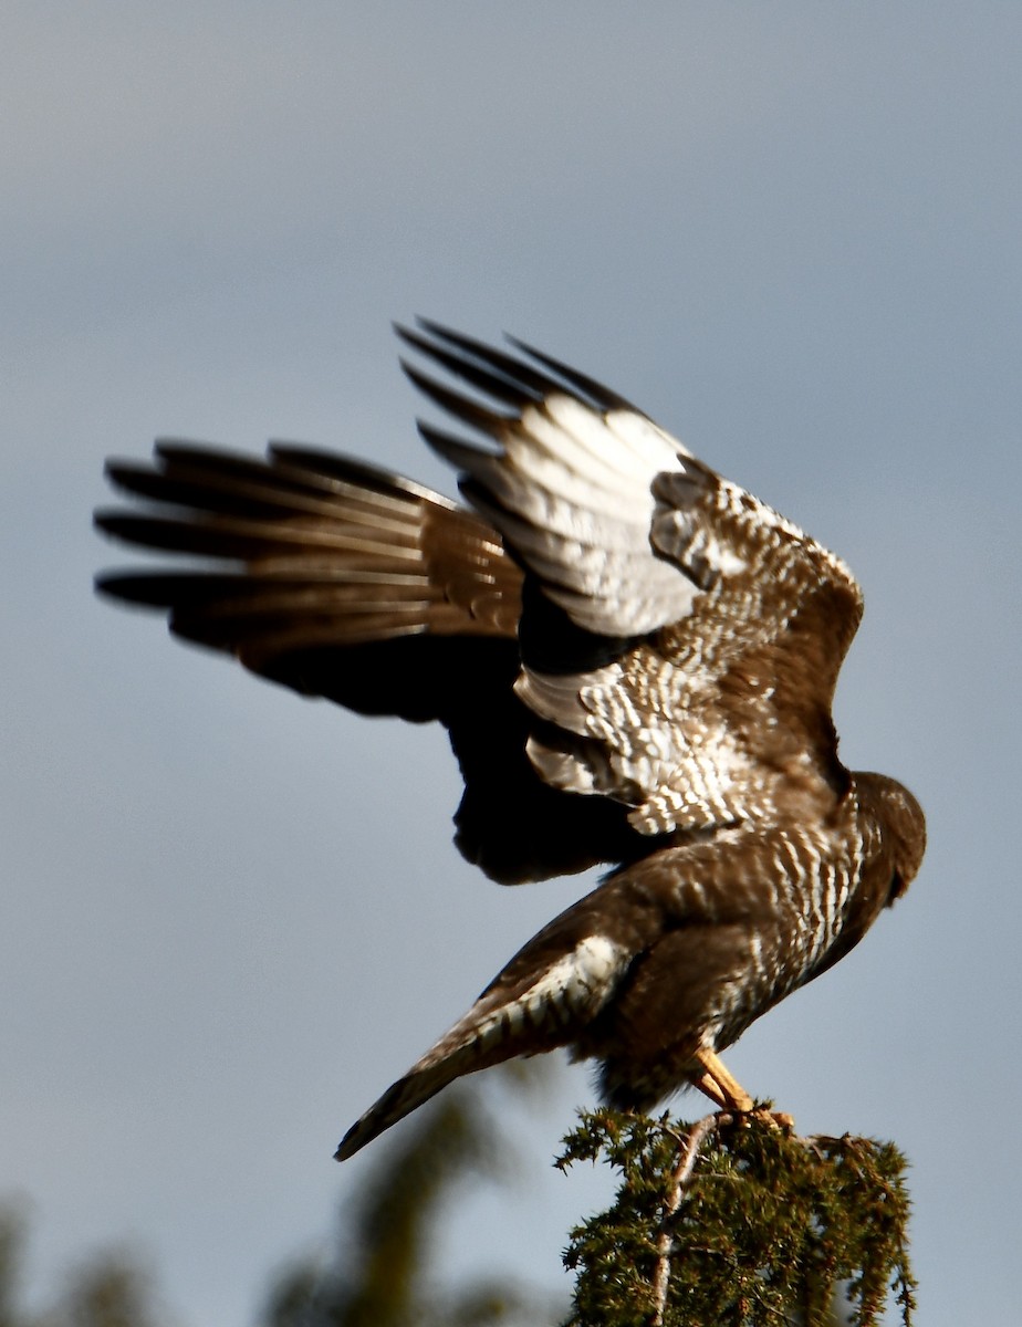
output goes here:
[{"label": "hazy blue-grey sky behind the bird and foliage", "polygon": [[[453,491],[389,328],[418,312],[604,380],[860,577],[841,750],[929,853],[727,1063],[908,1152],[921,1322],[1017,1320],[1019,52],[982,0],[9,0],[0,1194],[36,1294],[127,1242],[183,1324],[244,1327],[366,1173],[342,1129],[584,889],[461,861],[441,733],[92,594],[104,458],[158,434]],[[451,1213],[451,1267],[559,1283],[591,1101],[564,1070],[511,1112],[524,1182]]]}]

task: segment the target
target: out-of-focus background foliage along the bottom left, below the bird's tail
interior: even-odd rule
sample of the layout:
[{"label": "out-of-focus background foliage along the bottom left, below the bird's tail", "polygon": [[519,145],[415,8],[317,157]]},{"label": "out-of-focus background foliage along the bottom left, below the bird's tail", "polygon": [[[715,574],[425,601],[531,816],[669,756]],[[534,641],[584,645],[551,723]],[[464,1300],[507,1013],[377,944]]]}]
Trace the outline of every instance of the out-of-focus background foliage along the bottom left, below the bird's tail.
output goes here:
[{"label": "out-of-focus background foliage along the bottom left, below the bird's tail", "polygon": [[[503,1078],[519,1095],[544,1089],[543,1075],[527,1067]],[[374,1154],[328,1255],[301,1259],[275,1279],[259,1327],[538,1327],[563,1319],[564,1299],[515,1287],[511,1277],[447,1289],[433,1275],[443,1202],[473,1181],[504,1181],[516,1169],[475,1084],[445,1092]],[[81,1262],[52,1302],[31,1311],[21,1294],[27,1235],[21,1206],[0,1205],[0,1327],[177,1324],[153,1278],[119,1251]]]}]

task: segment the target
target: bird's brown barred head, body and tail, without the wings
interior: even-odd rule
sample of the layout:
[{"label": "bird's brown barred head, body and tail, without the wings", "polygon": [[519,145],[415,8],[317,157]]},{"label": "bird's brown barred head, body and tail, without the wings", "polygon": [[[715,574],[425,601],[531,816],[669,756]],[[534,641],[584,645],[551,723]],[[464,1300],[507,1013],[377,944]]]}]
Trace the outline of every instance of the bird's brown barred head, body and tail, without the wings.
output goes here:
[{"label": "bird's brown barred head, body and tail, without the wings", "polygon": [[601,1095],[648,1111],[868,930],[918,869],[918,807],[857,776],[827,825],[742,825],[613,873],[535,936],[349,1129],[353,1156],[447,1083],[569,1047]]}]

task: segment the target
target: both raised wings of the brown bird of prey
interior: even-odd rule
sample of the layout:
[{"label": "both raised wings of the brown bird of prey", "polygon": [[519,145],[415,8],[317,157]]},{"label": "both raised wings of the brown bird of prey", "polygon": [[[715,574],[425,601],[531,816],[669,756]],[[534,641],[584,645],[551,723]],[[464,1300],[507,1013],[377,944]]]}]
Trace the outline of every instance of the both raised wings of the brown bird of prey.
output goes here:
[{"label": "both raised wings of the brown bird of prey", "polygon": [[847,568],[591,378],[518,342],[401,334],[467,384],[405,365],[487,439],[421,426],[474,510],[308,449],[163,442],[108,466],[134,506],[97,523],[191,563],[100,589],[303,694],[438,719],[459,847],[502,881],[832,799]]}]

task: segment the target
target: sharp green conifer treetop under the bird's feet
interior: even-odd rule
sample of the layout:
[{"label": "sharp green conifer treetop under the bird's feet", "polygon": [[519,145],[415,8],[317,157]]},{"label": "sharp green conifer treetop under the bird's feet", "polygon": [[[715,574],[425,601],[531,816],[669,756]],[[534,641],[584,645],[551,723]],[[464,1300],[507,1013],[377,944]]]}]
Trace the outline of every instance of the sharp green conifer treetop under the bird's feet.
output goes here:
[{"label": "sharp green conifer treetop under the bird's feet", "polygon": [[845,1283],[855,1327],[892,1290],[911,1327],[907,1162],[889,1143],[799,1139],[766,1119],[584,1113],[557,1165],[621,1173],[572,1231],[569,1327],[826,1327]]}]

